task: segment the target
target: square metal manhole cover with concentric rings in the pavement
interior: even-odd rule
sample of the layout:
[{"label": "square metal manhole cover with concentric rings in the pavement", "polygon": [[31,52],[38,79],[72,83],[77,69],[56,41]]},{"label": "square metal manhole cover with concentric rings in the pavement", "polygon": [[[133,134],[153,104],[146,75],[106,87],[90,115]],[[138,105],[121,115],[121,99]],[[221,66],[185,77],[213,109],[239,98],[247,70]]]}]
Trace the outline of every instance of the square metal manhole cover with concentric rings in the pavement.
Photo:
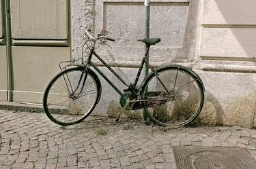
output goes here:
[{"label": "square metal manhole cover with concentric rings in the pavement", "polygon": [[255,169],[246,149],[174,147],[177,169]]}]

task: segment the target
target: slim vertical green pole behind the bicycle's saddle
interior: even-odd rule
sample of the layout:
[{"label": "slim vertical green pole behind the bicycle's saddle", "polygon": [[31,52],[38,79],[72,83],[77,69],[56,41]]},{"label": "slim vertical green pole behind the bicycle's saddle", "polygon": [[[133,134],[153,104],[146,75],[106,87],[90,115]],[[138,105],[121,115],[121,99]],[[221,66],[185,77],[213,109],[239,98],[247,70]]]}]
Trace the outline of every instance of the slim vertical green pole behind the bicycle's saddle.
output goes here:
[{"label": "slim vertical green pole behind the bicycle's saddle", "polygon": [[[144,6],[145,6],[145,38],[150,38],[150,0],[145,0]],[[145,45],[145,48],[146,48],[146,45]],[[150,52],[148,52],[146,56],[146,60],[145,60],[146,63],[149,62],[149,53]],[[147,67],[147,64],[145,64],[145,68],[144,68],[145,77],[147,76],[147,74],[148,74],[148,67]],[[147,123],[147,121],[148,121],[147,114],[143,110],[142,122]]]}]

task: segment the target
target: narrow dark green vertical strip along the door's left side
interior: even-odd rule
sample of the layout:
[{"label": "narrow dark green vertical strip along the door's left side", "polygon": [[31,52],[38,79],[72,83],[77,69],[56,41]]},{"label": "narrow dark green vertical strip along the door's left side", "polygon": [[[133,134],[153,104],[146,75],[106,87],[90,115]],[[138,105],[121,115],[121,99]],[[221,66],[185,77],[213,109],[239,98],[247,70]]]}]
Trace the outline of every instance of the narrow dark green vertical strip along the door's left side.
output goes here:
[{"label": "narrow dark green vertical strip along the door's left side", "polygon": [[11,35],[11,17],[10,17],[10,0],[4,1],[5,13],[5,42],[7,50],[7,67],[8,67],[8,102],[13,101],[12,91],[14,90],[13,69],[12,69],[12,35]]}]

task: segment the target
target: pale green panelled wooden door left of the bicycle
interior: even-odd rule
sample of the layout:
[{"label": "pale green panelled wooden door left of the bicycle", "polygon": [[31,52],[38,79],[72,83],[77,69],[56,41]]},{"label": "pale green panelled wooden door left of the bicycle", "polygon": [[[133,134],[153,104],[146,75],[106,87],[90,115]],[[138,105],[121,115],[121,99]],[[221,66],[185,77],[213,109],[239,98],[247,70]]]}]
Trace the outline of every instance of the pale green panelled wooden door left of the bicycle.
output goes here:
[{"label": "pale green panelled wooden door left of the bicycle", "polygon": [[[12,79],[8,83],[14,102],[42,102],[44,88],[59,72],[58,63],[70,60],[69,7],[68,0],[10,0]],[[7,57],[1,48],[0,54]],[[6,79],[5,74],[0,78]],[[0,82],[1,88],[6,89],[6,84]]]}]

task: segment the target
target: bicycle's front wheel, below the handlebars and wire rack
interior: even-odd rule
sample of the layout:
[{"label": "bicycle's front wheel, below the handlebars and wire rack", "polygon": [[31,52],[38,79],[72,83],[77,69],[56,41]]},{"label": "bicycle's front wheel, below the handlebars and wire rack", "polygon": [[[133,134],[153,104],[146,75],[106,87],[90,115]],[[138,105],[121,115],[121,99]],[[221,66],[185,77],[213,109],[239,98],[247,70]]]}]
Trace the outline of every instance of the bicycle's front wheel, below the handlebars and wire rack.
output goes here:
[{"label": "bicycle's front wheel, below the handlebars and wire rack", "polygon": [[44,111],[56,124],[77,124],[85,119],[100,97],[97,75],[85,68],[62,71],[48,84],[44,92]]}]

